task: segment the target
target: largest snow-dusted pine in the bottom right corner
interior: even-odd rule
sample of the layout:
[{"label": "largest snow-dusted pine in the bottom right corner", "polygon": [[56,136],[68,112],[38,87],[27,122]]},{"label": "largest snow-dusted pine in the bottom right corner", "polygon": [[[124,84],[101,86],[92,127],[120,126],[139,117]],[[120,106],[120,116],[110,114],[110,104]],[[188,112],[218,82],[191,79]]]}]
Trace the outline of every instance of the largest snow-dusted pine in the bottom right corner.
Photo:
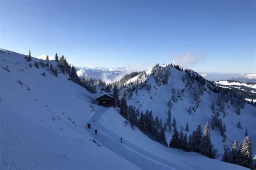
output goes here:
[{"label": "largest snow-dusted pine in the bottom right corner", "polygon": [[252,164],[252,144],[249,137],[245,137],[240,148],[240,158],[238,164],[247,168],[251,168]]}]

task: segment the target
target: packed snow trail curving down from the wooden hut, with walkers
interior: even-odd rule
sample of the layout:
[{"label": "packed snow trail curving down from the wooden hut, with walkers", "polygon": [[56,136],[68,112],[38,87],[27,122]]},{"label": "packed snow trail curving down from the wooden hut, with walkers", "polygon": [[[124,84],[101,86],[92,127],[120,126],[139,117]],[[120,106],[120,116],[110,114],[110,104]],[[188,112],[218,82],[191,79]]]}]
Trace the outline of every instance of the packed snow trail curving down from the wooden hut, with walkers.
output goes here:
[{"label": "packed snow trail curving down from the wooden hut, with walkers", "polygon": [[[141,169],[186,169],[185,167],[174,165],[172,162],[159,158],[125,139],[123,139],[123,143],[120,143],[120,136],[114,134],[99,123],[100,117],[102,117],[106,110],[107,108],[100,108],[92,114],[88,122],[91,123],[91,129],[87,129],[87,131],[97,140],[99,145],[109,148]],[[95,135],[95,129],[98,130],[97,135]]]}]

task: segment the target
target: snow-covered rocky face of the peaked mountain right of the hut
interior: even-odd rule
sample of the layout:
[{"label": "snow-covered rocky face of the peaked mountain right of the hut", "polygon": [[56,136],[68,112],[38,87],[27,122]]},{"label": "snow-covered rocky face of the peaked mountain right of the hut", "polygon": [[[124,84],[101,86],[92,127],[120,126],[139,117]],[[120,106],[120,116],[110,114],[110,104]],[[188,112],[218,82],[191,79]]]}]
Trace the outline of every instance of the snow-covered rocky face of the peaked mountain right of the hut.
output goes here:
[{"label": "snow-covered rocky face of the peaked mountain right of the hut", "polygon": [[[185,129],[186,123],[189,125],[190,131],[187,132],[188,136],[193,130],[196,130],[197,126],[201,124],[205,125],[206,122],[211,124],[214,113],[219,110],[223,124],[226,126],[226,145],[231,147],[233,141],[242,141],[245,138],[245,131],[248,130],[248,134],[252,141],[253,153],[256,152],[256,108],[250,104],[245,104],[245,108],[241,109],[241,114],[236,114],[235,102],[237,99],[228,100],[227,96],[214,93],[207,86],[214,87],[214,84],[206,81],[204,84],[203,77],[200,80],[194,80],[192,78],[187,79],[187,75],[196,75],[197,73],[192,70],[182,72],[175,67],[159,66],[152,70],[151,74],[147,74],[146,79],[143,77],[143,81],[136,80],[134,77],[128,82],[139,82],[130,84],[126,88],[127,91],[127,103],[133,105],[144,113],[146,110],[153,112],[153,117],[159,116],[162,119],[163,124],[167,121],[167,112],[171,108],[172,119],[176,118],[177,129],[181,127]],[[138,75],[140,76],[140,75]],[[138,77],[137,76],[137,77]],[[194,78],[197,79],[197,78]],[[203,83],[200,83],[202,81]],[[142,82],[142,83],[140,83]],[[227,94],[226,94],[227,95]],[[230,95],[230,94],[228,94]],[[221,112],[218,103],[218,98],[223,100],[223,110]],[[232,98],[232,97],[231,97]],[[227,101],[227,102],[224,102]],[[231,100],[231,99],[230,99]],[[215,104],[214,113],[211,109],[212,102]],[[188,111],[192,108],[191,114]],[[242,129],[237,128],[238,122],[241,122]],[[221,159],[223,151],[223,137],[220,134],[219,128],[211,130],[211,139],[214,144],[214,148],[217,149],[217,159]],[[166,132],[167,142],[170,141],[172,134]]]}]

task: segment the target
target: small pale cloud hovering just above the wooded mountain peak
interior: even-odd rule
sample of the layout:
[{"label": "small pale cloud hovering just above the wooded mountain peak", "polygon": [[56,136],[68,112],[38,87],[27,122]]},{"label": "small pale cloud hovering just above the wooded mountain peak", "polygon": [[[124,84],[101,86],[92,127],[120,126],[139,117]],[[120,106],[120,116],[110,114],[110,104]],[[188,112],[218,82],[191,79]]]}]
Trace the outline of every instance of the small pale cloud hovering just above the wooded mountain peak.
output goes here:
[{"label": "small pale cloud hovering just above the wooded mountain peak", "polygon": [[198,54],[186,53],[184,55],[177,56],[174,63],[181,67],[188,68],[198,63],[202,58]]}]

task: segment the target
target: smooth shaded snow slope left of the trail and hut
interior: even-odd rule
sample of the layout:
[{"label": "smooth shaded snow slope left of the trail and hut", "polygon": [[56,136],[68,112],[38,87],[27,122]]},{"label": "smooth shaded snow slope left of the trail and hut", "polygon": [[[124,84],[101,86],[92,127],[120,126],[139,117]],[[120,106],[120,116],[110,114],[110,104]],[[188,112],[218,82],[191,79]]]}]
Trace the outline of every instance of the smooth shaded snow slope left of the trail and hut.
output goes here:
[{"label": "smooth shaded snow slope left of the trail and hut", "polygon": [[0,169],[137,168],[92,142],[85,125],[93,95],[66,75],[33,66],[41,60],[3,50],[0,60]]}]

